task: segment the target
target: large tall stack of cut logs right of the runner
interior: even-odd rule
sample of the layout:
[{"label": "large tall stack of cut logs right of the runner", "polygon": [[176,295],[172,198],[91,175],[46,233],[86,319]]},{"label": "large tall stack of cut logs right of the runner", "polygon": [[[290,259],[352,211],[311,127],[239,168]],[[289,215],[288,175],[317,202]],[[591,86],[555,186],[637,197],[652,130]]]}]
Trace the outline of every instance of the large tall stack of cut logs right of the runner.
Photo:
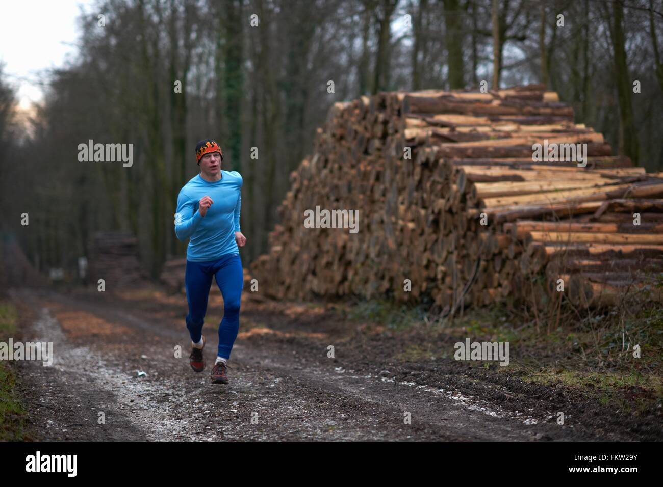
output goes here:
[{"label": "large tall stack of cut logs right of the runner", "polygon": [[[534,144],[586,152],[556,162]],[[611,154],[541,85],[335,103],[251,274],[273,298],[429,298],[448,311],[660,300],[663,174]],[[359,210],[359,231],[304,227],[316,206]]]}]

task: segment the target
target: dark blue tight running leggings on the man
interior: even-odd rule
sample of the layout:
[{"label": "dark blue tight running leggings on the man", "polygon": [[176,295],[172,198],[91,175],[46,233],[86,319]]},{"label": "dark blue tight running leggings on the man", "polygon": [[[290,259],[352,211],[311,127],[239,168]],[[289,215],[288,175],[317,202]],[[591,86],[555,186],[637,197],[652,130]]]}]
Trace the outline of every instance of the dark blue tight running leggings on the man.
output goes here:
[{"label": "dark blue tight running leggings on the man", "polygon": [[223,319],[219,325],[218,356],[230,358],[230,351],[239,331],[239,302],[244,287],[239,254],[225,254],[217,260],[206,262],[186,261],[184,282],[186,300],[189,303],[186,327],[191,335],[191,341],[198,343],[210,296],[211,276],[216,278],[216,284],[223,295]]}]

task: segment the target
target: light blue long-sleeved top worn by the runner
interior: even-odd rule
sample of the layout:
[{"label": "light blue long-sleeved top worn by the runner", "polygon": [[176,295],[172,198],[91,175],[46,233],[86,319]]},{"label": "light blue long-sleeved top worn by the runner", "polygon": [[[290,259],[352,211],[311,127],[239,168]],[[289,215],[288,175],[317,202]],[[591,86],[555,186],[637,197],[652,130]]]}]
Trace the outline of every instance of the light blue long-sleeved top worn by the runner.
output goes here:
[{"label": "light blue long-sleeved top worn by the runner", "polygon": [[[204,262],[225,254],[239,253],[235,232],[240,231],[242,185],[239,172],[221,170],[218,181],[206,181],[198,174],[180,189],[175,235],[182,242],[190,238],[186,247],[187,260]],[[209,196],[213,201],[204,217],[198,209],[198,201],[203,196]]]}]

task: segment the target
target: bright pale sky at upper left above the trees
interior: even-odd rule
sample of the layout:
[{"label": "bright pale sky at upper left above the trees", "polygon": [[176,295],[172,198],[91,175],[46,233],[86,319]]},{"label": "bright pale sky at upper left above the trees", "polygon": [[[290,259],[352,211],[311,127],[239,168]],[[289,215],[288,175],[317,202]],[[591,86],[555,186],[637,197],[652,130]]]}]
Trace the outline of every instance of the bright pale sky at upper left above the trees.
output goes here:
[{"label": "bright pale sky at upper left above the trees", "polygon": [[76,52],[79,5],[91,0],[0,0],[0,63],[18,87],[19,107],[42,98],[40,71],[64,64]]}]

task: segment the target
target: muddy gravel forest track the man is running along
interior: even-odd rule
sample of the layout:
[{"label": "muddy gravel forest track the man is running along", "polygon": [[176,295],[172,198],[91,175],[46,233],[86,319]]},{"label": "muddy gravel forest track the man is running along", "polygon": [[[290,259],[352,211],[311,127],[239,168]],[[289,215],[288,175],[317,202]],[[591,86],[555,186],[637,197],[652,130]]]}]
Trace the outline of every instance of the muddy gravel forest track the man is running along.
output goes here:
[{"label": "muddy gravel forest track the man is running along", "polygon": [[[556,424],[546,396],[558,392],[542,386],[519,391],[477,380],[458,362],[404,366],[380,348],[389,340],[373,343],[371,330],[306,307],[243,301],[231,382],[211,384],[216,332],[206,324],[208,364],[196,374],[188,365],[186,299],[100,295],[10,291],[23,339],[53,342],[52,366],[18,362],[34,439],[635,439],[627,428],[583,427],[574,419],[582,404]],[[216,298],[213,309],[220,309]]]}]

